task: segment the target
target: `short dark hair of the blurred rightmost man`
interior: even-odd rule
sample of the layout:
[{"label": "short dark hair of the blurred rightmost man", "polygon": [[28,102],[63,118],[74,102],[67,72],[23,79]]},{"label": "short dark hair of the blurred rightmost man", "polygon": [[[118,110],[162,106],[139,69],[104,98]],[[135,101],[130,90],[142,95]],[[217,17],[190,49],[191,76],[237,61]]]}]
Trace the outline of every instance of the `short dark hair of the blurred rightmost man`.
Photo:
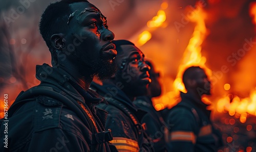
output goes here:
[{"label": "short dark hair of the blurred rightmost man", "polygon": [[197,72],[195,72],[195,71],[198,69],[204,70],[199,66],[190,66],[184,71],[183,76],[182,76],[182,81],[184,83],[185,88],[187,86],[186,80],[188,80],[188,79],[195,80],[197,78]]}]

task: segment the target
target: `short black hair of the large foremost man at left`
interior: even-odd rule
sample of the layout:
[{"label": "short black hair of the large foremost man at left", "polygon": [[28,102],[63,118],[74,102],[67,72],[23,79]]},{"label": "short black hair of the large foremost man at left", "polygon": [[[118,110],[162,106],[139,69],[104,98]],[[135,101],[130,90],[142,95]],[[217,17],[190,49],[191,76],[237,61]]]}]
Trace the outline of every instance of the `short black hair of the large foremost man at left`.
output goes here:
[{"label": "short black hair of the large foremost man at left", "polygon": [[[68,19],[71,13],[70,4],[84,1],[71,1],[62,0],[51,3],[44,13],[41,15],[39,21],[39,31],[42,38],[45,40],[50,52],[52,53],[53,47],[51,45],[51,36],[55,33],[65,33],[68,30]],[[88,2],[89,3],[89,2]]]}]

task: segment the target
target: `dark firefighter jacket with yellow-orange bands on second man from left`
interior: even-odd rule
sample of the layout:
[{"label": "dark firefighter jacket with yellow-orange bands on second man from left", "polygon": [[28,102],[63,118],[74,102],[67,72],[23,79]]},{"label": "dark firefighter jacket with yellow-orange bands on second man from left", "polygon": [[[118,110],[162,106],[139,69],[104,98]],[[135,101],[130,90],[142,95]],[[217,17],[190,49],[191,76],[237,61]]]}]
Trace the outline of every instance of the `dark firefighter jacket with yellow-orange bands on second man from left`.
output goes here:
[{"label": "dark firefighter jacket with yellow-orange bands on second man from left", "polygon": [[[119,151],[154,151],[152,140],[146,135],[141,118],[145,111],[138,109],[132,101],[116,86],[92,83],[91,88],[104,96],[108,105],[98,107],[108,111],[105,127],[112,130],[114,139],[111,141]],[[115,90],[115,92],[112,92]]]}]

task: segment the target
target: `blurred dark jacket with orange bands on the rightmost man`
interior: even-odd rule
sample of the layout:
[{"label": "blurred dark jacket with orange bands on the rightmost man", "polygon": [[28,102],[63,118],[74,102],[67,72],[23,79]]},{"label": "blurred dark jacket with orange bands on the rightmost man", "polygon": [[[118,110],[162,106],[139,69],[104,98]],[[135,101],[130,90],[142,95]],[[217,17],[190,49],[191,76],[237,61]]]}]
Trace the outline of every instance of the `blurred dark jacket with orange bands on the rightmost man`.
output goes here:
[{"label": "blurred dark jacket with orange bands on the rightmost man", "polygon": [[212,126],[207,105],[188,93],[181,93],[181,99],[166,117],[166,122],[174,124],[167,134],[170,151],[217,151],[222,137]]}]

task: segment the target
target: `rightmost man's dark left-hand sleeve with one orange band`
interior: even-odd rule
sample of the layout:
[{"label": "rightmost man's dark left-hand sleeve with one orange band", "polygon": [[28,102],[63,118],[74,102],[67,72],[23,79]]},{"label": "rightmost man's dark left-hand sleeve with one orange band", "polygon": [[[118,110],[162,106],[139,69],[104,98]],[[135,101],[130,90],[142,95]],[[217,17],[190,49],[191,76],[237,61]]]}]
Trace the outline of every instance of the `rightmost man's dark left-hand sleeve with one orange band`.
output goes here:
[{"label": "rightmost man's dark left-hand sleeve with one orange band", "polygon": [[197,133],[197,121],[188,109],[173,109],[167,116],[166,122],[170,126],[166,138],[170,151],[194,151]]}]

